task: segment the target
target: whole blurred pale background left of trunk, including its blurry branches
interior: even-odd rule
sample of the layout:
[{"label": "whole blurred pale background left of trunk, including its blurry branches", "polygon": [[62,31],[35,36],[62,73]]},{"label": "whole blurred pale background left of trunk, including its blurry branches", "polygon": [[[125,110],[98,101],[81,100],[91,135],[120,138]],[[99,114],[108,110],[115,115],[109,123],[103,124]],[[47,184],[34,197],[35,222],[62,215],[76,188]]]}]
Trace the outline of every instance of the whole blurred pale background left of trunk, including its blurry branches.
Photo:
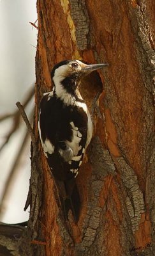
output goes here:
[{"label": "whole blurred pale background left of trunk, including its blurry branches", "polygon": [[[31,171],[30,138],[15,103],[32,122],[37,29],[36,0],[0,0],[0,221],[17,223],[24,212]],[[37,22],[35,23],[37,26]]]}]

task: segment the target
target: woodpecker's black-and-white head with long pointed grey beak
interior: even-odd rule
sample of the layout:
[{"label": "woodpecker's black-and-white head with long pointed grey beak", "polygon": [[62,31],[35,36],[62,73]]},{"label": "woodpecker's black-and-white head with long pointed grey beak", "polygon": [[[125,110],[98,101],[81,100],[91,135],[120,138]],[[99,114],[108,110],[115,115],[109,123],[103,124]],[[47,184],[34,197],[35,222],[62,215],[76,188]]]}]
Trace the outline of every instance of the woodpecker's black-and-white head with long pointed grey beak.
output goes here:
[{"label": "woodpecker's black-and-white head with long pointed grey beak", "polygon": [[62,97],[64,93],[74,96],[82,77],[105,66],[108,64],[87,65],[80,60],[66,60],[57,63],[51,72],[57,97]]}]

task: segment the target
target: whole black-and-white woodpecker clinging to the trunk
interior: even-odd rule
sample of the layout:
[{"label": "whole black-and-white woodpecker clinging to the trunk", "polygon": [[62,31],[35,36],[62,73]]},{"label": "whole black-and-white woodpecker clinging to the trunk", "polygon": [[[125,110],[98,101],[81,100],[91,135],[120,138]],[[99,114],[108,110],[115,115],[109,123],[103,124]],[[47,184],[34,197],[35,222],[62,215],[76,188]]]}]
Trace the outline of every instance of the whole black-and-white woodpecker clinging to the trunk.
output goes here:
[{"label": "whole black-and-white woodpecker clinging to the trunk", "polygon": [[51,72],[52,92],[40,102],[38,131],[47,163],[59,191],[63,215],[71,209],[75,223],[80,213],[76,177],[92,138],[92,121],[79,92],[82,77],[107,63],[87,65],[79,60],[57,63]]}]

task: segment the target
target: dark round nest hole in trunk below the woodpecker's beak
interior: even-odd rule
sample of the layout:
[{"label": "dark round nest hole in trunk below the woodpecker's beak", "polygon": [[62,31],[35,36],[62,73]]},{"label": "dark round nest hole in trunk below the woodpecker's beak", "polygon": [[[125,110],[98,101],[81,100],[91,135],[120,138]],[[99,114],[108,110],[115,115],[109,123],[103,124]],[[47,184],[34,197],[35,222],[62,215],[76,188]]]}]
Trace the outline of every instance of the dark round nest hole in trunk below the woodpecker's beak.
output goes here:
[{"label": "dark round nest hole in trunk below the woodpecker's beak", "polygon": [[88,106],[91,105],[91,102],[94,97],[96,97],[97,93],[101,92],[103,92],[103,84],[97,71],[92,72],[82,79],[80,93]]}]

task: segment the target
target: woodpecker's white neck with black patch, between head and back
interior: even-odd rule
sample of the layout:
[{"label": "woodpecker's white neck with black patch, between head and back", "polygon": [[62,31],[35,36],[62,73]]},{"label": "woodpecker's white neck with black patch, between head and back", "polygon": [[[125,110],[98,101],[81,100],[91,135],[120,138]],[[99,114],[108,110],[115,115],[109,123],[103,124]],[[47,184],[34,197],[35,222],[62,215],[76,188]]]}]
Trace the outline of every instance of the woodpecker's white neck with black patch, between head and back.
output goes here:
[{"label": "woodpecker's white neck with black patch, between head and back", "polygon": [[63,100],[66,105],[75,105],[76,101],[84,102],[79,91],[77,77],[65,77],[59,83],[54,83],[54,92],[57,98]]}]

